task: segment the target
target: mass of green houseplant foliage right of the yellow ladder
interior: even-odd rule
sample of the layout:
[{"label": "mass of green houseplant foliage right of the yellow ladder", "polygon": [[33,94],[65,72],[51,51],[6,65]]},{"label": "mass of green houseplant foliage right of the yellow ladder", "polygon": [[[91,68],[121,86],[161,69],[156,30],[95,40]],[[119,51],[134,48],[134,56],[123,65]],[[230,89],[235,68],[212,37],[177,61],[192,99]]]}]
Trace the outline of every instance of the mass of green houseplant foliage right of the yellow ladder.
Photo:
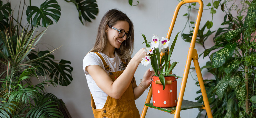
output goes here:
[{"label": "mass of green houseplant foliage right of the yellow ladder", "polygon": [[[194,6],[194,3],[190,4],[189,12],[184,14],[192,28],[194,22],[189,21],[189,16]],[[199,30],[197,43],[205,49],[199,56],[210,58],[201,70],[205,68],[214,75],[214,79],[204,80],[213,117],[256,117],[256,0],[242,0],[239,3],[220,0],[206,6],[212,19]],[[224,20],[217,31],[211,31],[213,14],[217,13],[218,8],[225,14]],[[207,49],[204,42],[214,32],[215,45]],[[187,42],[190,42],[191,36],[192,33],[182,34]],[[196,100],[203,102],[202,95]]]}]

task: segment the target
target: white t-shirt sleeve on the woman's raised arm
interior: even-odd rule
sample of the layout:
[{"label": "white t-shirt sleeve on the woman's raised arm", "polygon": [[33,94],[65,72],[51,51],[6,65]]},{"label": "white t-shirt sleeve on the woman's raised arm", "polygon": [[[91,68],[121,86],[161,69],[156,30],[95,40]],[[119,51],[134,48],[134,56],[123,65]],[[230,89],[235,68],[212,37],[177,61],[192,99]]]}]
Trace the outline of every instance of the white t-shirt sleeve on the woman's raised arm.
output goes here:
[{"label": "white t-shirt sleeve on the woman's raised arm", "polygon": [[85,57],[84,57],[84,60],[83,60],[83,70],[84,70],[84,73],[86,75],[89,75],[89,73],[87,71],[85,71],[85,68],[87,66],[90,66],[90,65],[99,65],[99,66],[103,66],[102,64],[102,60],[100,59],[100,57],[94,53],[94,52],[90,52],[88,53]]}]

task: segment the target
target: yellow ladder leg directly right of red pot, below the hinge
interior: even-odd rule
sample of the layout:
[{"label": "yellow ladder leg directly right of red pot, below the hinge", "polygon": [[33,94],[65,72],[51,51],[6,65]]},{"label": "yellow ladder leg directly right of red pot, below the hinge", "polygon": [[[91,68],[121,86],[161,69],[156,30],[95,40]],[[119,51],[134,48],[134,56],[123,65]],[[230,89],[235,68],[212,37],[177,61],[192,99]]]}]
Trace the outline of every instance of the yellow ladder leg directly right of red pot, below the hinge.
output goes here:
[{"label": "yellow ladder leg directly right of red pot, below the hinge", "polygon": [[[190,51],[189,51],[189,53],[190,53]],[[187,84],[187,77],[188,77],[191,61],[192,61],[192,58],[187,57],[187,62],[186,62],[186,66],[185,66],[185,70],[184,70],[184,74],[183,74],[181,89],[180,89],[180,93],[179,93],[177,106],[176,106],[176,109],[175,109],[174,118],[179,118],[180,117],[181,105],[182,105],[182,101],[183,101],[183,97],[184,97],[184,93],[185,93],[185,88],[186,88],[186,84]]]}]

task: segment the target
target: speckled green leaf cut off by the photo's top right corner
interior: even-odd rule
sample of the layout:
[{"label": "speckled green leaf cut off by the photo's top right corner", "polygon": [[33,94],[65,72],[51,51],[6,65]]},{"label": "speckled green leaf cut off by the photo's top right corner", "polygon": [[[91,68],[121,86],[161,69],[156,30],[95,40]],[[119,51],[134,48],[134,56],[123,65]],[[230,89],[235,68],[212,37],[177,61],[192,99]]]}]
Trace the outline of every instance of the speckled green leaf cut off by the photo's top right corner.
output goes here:
[{"label": "speckled green leaf cut off by the photo's top right corner", "polygon": [[248,12],[245,17],[244,27],[250,29],[254,26],[256,21],[256,0],[253,0],[248,7]]}]

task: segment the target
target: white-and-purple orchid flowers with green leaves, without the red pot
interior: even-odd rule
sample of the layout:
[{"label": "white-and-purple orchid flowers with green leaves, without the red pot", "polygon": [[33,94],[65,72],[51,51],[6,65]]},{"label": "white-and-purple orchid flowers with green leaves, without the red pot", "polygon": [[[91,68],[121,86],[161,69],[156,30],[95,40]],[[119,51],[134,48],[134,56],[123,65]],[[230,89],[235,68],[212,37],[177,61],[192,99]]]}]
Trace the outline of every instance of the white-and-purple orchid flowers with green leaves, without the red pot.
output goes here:
[{"label": "white-and-purple orchid flowers with green leaves, without the red pot", "polygon": [[[165,89],[165,79],[164,79],[165,76],[174,76],[174,77],[182,78],[172,73],[172,70],[174,69],[174,67],[178,62],[173,62],[172,64],[170,64],[171,55],[172,55],[179,33],[177,33],[177,35],[175,36],[170,48],[168,45],[171,42],[169,41],[168,38],[162,37],[162,39],[160,40],[158,35],[153,34],[152,42],[150,46],[149,45],[150,42],[148,42],[145,35],[142,34],[145,40],[145,42],[143,43],[146,43],[146,46],[147,46],[147,48],[145,48],[144,51],[147,52],[147,54],[149,55],[146,56],[145,58],[142,58],[141,64],[144,66],[148,66],[149,64],[151,64],[151,67],[155,72],[155,76],[159,77],[160,82],[163,85],[163,89]],[[164,53],[164,55],[160,55],[159,50],[162,53]]]}]

